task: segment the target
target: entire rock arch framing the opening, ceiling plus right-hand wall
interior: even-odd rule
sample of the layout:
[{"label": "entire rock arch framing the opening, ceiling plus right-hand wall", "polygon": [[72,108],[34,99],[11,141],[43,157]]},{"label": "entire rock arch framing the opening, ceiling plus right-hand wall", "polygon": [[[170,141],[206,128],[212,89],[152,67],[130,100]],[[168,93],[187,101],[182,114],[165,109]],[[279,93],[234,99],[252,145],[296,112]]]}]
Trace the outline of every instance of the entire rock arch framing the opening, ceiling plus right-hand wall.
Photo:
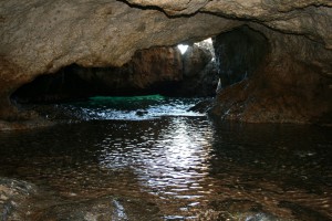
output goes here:
[{"label": "entire rock arch framing the opening, ceiling plus right-hand wall", "polygon": [[246,122],[330,116],[330,0],[9,0],[0,2],[0,118],[17,118],[9,96],[41,74],[74,63],[121,66],[137,50],[243,24],[264,35],[268,52],[249,80],[221,91],[212,112]]}]

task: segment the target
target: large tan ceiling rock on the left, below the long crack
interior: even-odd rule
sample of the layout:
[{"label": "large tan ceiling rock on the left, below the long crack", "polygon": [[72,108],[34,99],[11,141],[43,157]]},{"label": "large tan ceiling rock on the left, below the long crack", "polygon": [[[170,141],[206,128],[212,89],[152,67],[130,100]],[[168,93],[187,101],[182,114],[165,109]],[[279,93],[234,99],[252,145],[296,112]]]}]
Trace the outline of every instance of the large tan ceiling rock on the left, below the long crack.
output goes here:
[{"label": "large tan ceiling rock on the left, below the long crack", "polygon": [[169,19],[114,0],[1,1],[0,18],[1,118],[13,115],[8,96],[42,73],[73,63],[120,66],[139,49],[201,40],[240,23],[203,13]]}]

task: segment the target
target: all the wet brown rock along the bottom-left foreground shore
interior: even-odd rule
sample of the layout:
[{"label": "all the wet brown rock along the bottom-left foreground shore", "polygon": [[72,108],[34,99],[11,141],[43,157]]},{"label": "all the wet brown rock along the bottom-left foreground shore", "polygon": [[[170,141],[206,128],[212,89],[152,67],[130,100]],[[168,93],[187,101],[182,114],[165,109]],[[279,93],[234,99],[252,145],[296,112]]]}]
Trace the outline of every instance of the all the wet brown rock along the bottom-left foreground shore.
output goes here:
[{"label": "all the wet brown rock along the bottom-left foreground shore", "polygon": [[0,177],[0,219],[7,220],[157,220],[159,208],[121,196],[60,199],[33,183]]}]

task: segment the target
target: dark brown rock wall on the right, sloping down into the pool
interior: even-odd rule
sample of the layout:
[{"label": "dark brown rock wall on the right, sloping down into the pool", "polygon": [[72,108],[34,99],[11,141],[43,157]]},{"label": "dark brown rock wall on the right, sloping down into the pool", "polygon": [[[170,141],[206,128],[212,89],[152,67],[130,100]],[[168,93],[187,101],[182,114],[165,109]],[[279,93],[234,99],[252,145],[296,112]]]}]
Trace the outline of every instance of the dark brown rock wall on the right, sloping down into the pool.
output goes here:
[{"label": "dark brown rock wall on the right, sloping down into the pool", "polygon": [[[249,123],[331,124],[332,78],[328,73],[332,52],[304,36],[256,29],[269,40],[267,55],[251,76],[218,94],[211,114]],[[237,63],[236,57],[231,60],[235,65],[247,65],[246,60]]]}]

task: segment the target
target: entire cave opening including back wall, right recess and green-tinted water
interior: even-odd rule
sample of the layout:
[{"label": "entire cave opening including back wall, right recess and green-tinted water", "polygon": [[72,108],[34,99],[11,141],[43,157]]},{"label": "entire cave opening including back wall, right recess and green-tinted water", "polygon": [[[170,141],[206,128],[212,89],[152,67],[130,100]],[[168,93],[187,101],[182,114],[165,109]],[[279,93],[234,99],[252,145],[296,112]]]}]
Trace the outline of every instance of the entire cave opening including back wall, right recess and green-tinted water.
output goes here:
[{"label": "entire cave opening including back wall, right recess and green-tinted water", "polygon": [[[263,34],[243,25],[199,42],[139,50],[121,67],[72,64],[21,86],[11,99],[28,107],[75,103],[76,107],[71,107],[74,113],[90,109],[91,115],[83,118],[206,113],[216,93],[255,75],[268,48]],[[177,98],[183,99],[181,107]],[[103,113],[98,114],[101,106]],[[122,112],[125,106],[127,113]],[[110,113],[105,107],[116,110]],[[43,108],[33,108],[45,115]]]}]

